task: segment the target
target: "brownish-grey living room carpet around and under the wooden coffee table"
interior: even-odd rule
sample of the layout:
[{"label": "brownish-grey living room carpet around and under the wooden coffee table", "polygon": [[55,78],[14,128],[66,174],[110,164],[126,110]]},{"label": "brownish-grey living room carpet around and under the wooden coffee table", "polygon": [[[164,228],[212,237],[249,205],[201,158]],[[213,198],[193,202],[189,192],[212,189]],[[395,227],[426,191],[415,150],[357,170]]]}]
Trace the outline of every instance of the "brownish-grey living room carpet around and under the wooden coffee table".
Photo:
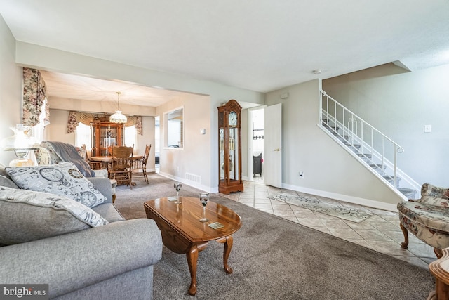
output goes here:
[{"label": "brownish-grey living room carpet around and under the wooden coffee table", "polygon": [[[180,193],[197,197],[199,190],[183,185]],[[119,187],[116,204],[126,219],[143,217],[143,202],[164,194],[175,195],[173,181],[151,175],[149,184],[138,179],[133,190]],[[434,278],[424,268],[217,194],[210,200],[242,218],[229,256],[234,272],[227,274],[223,268],[223,244],[210,242],[199,253],[198,292],[189,296],[185,254],[163,247],[162,259],[154,266],[153,299],[400,300],[426,299],[434,289]]]}]

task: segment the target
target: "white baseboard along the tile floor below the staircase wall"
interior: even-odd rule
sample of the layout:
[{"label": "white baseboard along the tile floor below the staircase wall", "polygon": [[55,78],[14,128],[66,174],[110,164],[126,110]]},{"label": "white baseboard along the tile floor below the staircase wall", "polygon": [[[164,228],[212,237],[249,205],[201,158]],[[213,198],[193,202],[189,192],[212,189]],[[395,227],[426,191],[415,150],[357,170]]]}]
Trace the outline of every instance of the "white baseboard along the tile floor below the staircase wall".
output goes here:
[{"label": "white baseboard along the tile floor below the staircase wall", "polygon": [[353,197],[353,196],[348,196],[348,195],[342,195],[342,194],[337,194],[337,193],[329,193],[329,192],[326,192],[323,190],[314,190],[312,188],[303,188],[303,187],[296,186],[296,185],[283,184],[282,188],[286,188],[288,190],[295,190],[295,191],[301,192],[301,193],[307,193],[307,194],[311,194],[311,195],[335,199],[335,200],[339,200],[339,201],[343,201],[343,202],[349,202],[352,204],[360,204],[360,205],[363,205],[366,207],[373,207],[375,209],[382,209],[382,210],[394,211],[394,212],[398,211],[396,204],[391,204],[391,203],[385,203],[385,202],[369,200],[369,199],[364,199],[364,198],[359,198],[359,197]]}]

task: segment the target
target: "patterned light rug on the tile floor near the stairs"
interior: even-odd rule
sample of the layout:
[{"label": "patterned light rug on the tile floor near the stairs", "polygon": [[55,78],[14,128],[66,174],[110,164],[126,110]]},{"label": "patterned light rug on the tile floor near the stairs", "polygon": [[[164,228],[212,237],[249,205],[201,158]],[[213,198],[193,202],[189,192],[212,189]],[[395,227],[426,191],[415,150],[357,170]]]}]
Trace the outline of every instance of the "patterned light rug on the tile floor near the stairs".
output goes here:
[{"label": "patterned light rug on the tile floor near the stairs", "polygon": [[360,223],[363,220],[373,216],[373,213],[362,207],[346,207],[335,200],[320,200],[316,197],[306,195],[280,194],[269,196],[269,199],[286,202],[298,207],[304,207],[313,211],[318,211],[329,216],[336,216],[340,219]]}]

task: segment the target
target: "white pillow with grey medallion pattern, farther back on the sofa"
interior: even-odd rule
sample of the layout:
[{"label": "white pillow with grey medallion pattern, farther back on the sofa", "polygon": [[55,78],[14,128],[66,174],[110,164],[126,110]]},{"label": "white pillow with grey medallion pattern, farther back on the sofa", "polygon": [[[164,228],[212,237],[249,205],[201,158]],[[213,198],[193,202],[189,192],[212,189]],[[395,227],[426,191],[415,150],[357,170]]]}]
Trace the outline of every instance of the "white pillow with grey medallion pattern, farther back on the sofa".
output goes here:
[{"label": "white pillow with grey medallion pattern, farther back on the sofa", "polygon": [[35,167],[6,167],[5,170],[24,190],[66,196],[87,207],[95,207],[107,201],[72,162]]}]

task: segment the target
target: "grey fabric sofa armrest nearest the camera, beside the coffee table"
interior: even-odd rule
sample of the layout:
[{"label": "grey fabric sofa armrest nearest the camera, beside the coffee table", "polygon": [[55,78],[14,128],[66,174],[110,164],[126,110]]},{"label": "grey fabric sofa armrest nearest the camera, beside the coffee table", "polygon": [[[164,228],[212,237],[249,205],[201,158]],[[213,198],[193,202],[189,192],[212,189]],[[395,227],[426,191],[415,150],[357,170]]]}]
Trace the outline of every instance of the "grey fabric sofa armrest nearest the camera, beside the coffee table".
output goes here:
[{"label": "grey fabric sofa armrest nearest the camera, beside the coffee table", "polygon": [[161,232],[152,219],[114,222],[0,247],[0,282],[48,283],[53,298],[152,266],[161,256]]}]

